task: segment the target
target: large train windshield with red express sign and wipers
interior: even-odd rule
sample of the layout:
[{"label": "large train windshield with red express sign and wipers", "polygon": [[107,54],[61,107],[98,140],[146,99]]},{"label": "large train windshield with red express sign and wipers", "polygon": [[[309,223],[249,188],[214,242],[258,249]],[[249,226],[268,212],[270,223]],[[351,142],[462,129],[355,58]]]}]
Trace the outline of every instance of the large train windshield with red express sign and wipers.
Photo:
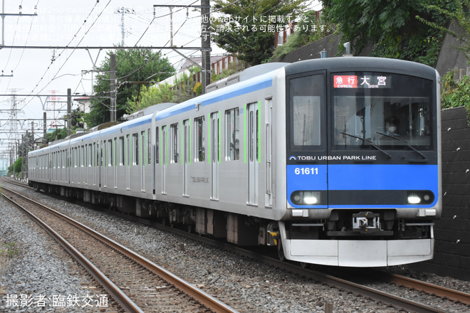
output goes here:
[{"label": "large train windshield with red express sign and wipers", "polygon": [[394,73],[331,75],[335,147],[432,148],[432,82]]}]

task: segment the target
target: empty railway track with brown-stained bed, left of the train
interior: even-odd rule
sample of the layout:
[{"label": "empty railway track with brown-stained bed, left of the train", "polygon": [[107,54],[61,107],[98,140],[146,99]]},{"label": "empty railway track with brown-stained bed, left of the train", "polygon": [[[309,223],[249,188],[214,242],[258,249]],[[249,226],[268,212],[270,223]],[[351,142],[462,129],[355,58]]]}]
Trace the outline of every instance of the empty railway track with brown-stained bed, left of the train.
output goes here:
[{"label": "empty railway track with brown-stained bed, left of the train", "polygon": [[[61,243],[125,312],[236,312],[150,260],[61,213],[4,186],[2,195]],[[54,230],[48,225],[54,225]]]}]

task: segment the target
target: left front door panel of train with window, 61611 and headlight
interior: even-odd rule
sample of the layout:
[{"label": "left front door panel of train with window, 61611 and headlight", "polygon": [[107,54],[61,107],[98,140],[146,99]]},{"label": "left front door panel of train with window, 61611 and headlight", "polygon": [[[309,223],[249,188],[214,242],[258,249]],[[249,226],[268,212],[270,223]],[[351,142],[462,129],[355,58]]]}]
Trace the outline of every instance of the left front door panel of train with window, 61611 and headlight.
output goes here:
[{"label": "left front door panel of train with window, 61611 and headlight", "polygon": [[288,78],[286,191],[288,205],[328,208],[325,72]]}]

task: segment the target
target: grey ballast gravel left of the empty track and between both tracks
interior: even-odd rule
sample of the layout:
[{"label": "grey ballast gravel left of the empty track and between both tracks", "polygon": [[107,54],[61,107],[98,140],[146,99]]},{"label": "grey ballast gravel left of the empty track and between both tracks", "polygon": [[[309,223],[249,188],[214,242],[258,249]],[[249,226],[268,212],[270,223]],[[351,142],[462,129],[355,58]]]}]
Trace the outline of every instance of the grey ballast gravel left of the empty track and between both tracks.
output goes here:
[{"label": "grey ballast gravel left of the empty track and between both tracks", "polygon": [[[323,313],[326,304],[333,304],[333,312],[404,312],[178,235],[34,191],[28,193],[192,282],[239,312]],[[85,297],[87,292],[90,294],[90,290],[82,286],[83,280],[88,278],[83,277],[83,272],[78,274],[73,270],[76,266],[61,256],[56,251],[58,248],[52,248],[51,239],[38,235],[38,227],[4,200],[0,200],[0,216],[0,245],[15,243],[19,250],[11,264],[0,269],[0,312],[103,312],[99,307],[53,306],[53,295]],[[442,277],[435,279],[437,284],[443,280]],[[449,287],[469,285],[468,282],[445,279],[450,282]],[[7,295],[21,294],[51,297],[50,306],[6,307]]]}]

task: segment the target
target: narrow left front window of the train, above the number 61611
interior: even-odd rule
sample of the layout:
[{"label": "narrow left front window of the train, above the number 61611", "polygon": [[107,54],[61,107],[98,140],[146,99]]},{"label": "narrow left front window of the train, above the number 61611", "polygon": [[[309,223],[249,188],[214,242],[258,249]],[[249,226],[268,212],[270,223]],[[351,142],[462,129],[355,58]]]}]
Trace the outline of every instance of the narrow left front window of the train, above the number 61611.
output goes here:
[{"label": "narrow left front window of the train, above the number 61611", "polygon": [[322,140],[324,75],[308,75],[289,81],[290,138],[292,149],[319,147]]}]

